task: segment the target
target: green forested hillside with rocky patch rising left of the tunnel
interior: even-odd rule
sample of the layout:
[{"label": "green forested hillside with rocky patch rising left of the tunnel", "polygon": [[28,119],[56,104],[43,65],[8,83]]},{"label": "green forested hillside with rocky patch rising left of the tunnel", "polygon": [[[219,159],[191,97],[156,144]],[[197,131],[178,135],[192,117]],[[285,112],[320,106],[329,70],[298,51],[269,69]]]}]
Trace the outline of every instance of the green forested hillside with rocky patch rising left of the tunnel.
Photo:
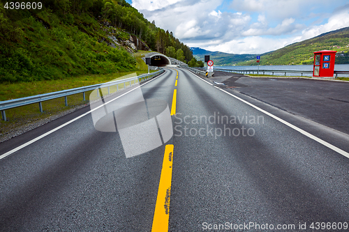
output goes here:
[{"label": "green forested hillside with rocky patch rising left of the tunnel", "polygon": [[[0,3],[0,82],[64,79],[136,70],[133,38],[151,50],[191,61],[189,47],[124,0],[46,0],[41,10]],[[134,51],[133,51],[134,52]]]}]

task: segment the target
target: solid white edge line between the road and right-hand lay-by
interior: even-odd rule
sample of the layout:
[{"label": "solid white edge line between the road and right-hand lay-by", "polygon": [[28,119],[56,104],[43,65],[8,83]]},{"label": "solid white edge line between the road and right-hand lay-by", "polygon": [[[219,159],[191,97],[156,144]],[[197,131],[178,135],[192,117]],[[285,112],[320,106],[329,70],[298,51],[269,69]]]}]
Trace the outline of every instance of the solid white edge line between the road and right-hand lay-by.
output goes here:
[{"label": "solid white edge line between the road and right-hand lay-by", "polygon": [[[214,87],[218,88],[217,86],[214,86]],[[260,109],[260,107],[256,107],[252,103],[247,102],[246,100],[243,100],[242,98],[239,98],[239,97],[233,95],[232,93],[229,93],[229,92],[227,92],[227,91],[225,91],[225,90],[223,90],[221,88],[218,88],[218,89],[220,91],[223,91],[224,93],[228,93],[229,95],[231,95],[232,97],[236,98],[237,100],[240,100],[240,101],[246,103],[247,105],[249,105],[249,106],[251,106],[251,107],[261,111],[262,113],[267,114],[268,116],[271,116],[272,118],[276,119],[277,121],[279,121],[279,122],[281,122],[281,123],[283,123],[285,125],[288,125],[292,129],[297,130],[297,132],[300,132],[300,133],[304,134],[306,137],[309,137],[310,139],[313,139],[313,140],[317,141],[318,143],[320,143],[320,144],[322,144],[324,146],[327,146],[327,148],[332,149],[335,152],[337,152],[337,153],[339,153],[341,155],[344,155],[345,157],[349,158],[349,153],[347,153],[345,150],[341,150],[341,148],[337,148],[336,146],[333,146],[332,144],[327,143],[327,141],[324,141],[324,140],[322,140],[322,139],[320,139],[318,137],[315,137],[315,135],[310,134],[309,132],[306,132],[305,130],[302,130],[301,128],[296,127],[295,125],[292,125],[291,123],[288,123],[288,122],[284,121],[283,119],[279,118],[278,116],[275,116],[274,114],[270,114],[268,111],[265,111],[264,109]]]}]

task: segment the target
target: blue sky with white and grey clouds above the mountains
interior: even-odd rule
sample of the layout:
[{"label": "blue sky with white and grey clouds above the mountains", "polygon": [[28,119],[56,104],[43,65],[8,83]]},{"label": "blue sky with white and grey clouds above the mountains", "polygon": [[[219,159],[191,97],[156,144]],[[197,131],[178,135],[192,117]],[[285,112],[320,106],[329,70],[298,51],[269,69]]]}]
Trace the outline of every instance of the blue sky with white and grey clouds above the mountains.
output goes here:
[{"label": "blue sky with white and grey clouds above the mountains", "polygon": [[189,47],[262,54],[349,26],[348,0],[126,0]]}]

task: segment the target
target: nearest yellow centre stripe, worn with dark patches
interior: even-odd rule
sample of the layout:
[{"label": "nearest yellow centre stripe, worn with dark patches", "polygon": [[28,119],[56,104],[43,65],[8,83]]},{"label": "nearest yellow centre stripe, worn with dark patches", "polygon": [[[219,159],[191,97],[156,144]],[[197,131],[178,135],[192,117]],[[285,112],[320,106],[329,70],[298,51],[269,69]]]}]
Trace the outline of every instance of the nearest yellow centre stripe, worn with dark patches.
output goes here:
[{"label": "nearest yellow centre stripe, worn with dark patches", "polygon": [[160,183],[158,184],[158,197],[156,199],[153,226],[151,232],[167,232],[168,218],[170,216],[170,194],[172,180],[172,144],[165,146],[163,155],[163,168],[161,170]]}]

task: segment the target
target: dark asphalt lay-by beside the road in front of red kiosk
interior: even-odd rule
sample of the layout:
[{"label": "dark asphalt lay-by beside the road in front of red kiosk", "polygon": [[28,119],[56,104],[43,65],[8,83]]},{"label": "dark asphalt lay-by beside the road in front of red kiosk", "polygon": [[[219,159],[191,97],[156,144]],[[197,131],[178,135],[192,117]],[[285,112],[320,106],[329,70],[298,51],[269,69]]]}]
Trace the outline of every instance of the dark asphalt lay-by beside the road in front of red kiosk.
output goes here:
[{"label": "dark asphalt lay-by beside the road in front of red kiosk", "polygon": [[349,82],[233,76],[225,88],[349,134]]}]

